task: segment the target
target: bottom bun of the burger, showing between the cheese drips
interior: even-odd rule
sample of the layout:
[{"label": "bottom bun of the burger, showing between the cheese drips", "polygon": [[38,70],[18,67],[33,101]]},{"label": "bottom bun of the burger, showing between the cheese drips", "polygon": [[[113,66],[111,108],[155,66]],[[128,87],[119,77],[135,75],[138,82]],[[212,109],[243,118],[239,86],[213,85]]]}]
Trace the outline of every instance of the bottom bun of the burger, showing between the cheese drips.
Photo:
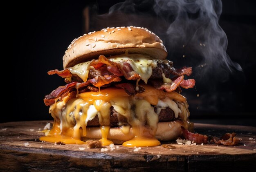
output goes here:
[{"label": "bottom bun of the burger, showing between the cheese drips", "polygon": [[[176,139],[182,134],[182,121],[159,122],[157,123],[157,131],[155,137],[159,141],[170,141]],[[82,141],[101,139],[101,130],[99,127],[87,127],[86,137],[82,137]],[[82,135],[82,131],[81,131]],[[134,137],[132,128],[130,132],[124,134],[119,127],[110,128],[108,139],[113,141],[115,145],[122,144]]]}]

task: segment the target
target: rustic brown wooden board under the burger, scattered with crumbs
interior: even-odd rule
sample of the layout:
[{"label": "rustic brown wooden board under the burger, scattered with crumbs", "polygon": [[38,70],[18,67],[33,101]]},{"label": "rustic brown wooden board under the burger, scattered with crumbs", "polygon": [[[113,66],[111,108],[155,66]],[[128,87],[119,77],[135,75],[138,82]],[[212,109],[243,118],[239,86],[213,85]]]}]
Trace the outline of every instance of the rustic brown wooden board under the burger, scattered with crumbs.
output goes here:
[{"label": "rustic brown wooden board under the burger, scattered with crumbs", "polygon": [[[243,140],[237,146],[216,144],[178,145],[135,148],[119,146],[101,152],[84,145],[54,145],[42,143],[46,123],[51,121],[21,121],[0,123],[0,170],[72,170],[72,171],[222,171],[254,169],[256,167],[256,127],[223,126],[195,123],[195,131],[221,136],[236,132]],[[28,142],[29,146],[24,143]],[[85,148],[80,150],[79,148]]]}]

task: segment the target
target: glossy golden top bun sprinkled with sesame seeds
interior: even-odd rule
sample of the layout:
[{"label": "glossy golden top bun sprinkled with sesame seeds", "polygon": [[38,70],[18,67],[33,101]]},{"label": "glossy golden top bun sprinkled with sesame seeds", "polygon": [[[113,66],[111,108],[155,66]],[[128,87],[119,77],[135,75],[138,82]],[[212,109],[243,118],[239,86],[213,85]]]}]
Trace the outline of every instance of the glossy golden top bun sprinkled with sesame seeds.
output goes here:
[{"label": "glossy golden top bun sprinkled with sesame seeds", "polygon": [[156,59],[167,57],[166,48],[155,33],[143,27],[111,27],[90,32],[74,39],[63,56],[63,67],[72,67],[81,62],[124,54],[149,55]]}]

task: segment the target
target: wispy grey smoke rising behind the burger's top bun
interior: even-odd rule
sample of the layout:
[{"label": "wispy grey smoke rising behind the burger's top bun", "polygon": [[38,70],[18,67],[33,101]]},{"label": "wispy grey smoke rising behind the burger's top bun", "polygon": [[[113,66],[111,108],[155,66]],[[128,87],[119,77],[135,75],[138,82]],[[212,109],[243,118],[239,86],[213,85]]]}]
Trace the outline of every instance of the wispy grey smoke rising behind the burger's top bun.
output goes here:
[{"label": "wispy grey smoke rising behind the burger's top bun", "polygon": [[226,81],[239,64],[227,55],[227,36],[218,24],[221,0],[126,0],[104,15],[92,15],[95,30],[141,26],[164,42],[174,66],[192,66],[198,80]]}]

